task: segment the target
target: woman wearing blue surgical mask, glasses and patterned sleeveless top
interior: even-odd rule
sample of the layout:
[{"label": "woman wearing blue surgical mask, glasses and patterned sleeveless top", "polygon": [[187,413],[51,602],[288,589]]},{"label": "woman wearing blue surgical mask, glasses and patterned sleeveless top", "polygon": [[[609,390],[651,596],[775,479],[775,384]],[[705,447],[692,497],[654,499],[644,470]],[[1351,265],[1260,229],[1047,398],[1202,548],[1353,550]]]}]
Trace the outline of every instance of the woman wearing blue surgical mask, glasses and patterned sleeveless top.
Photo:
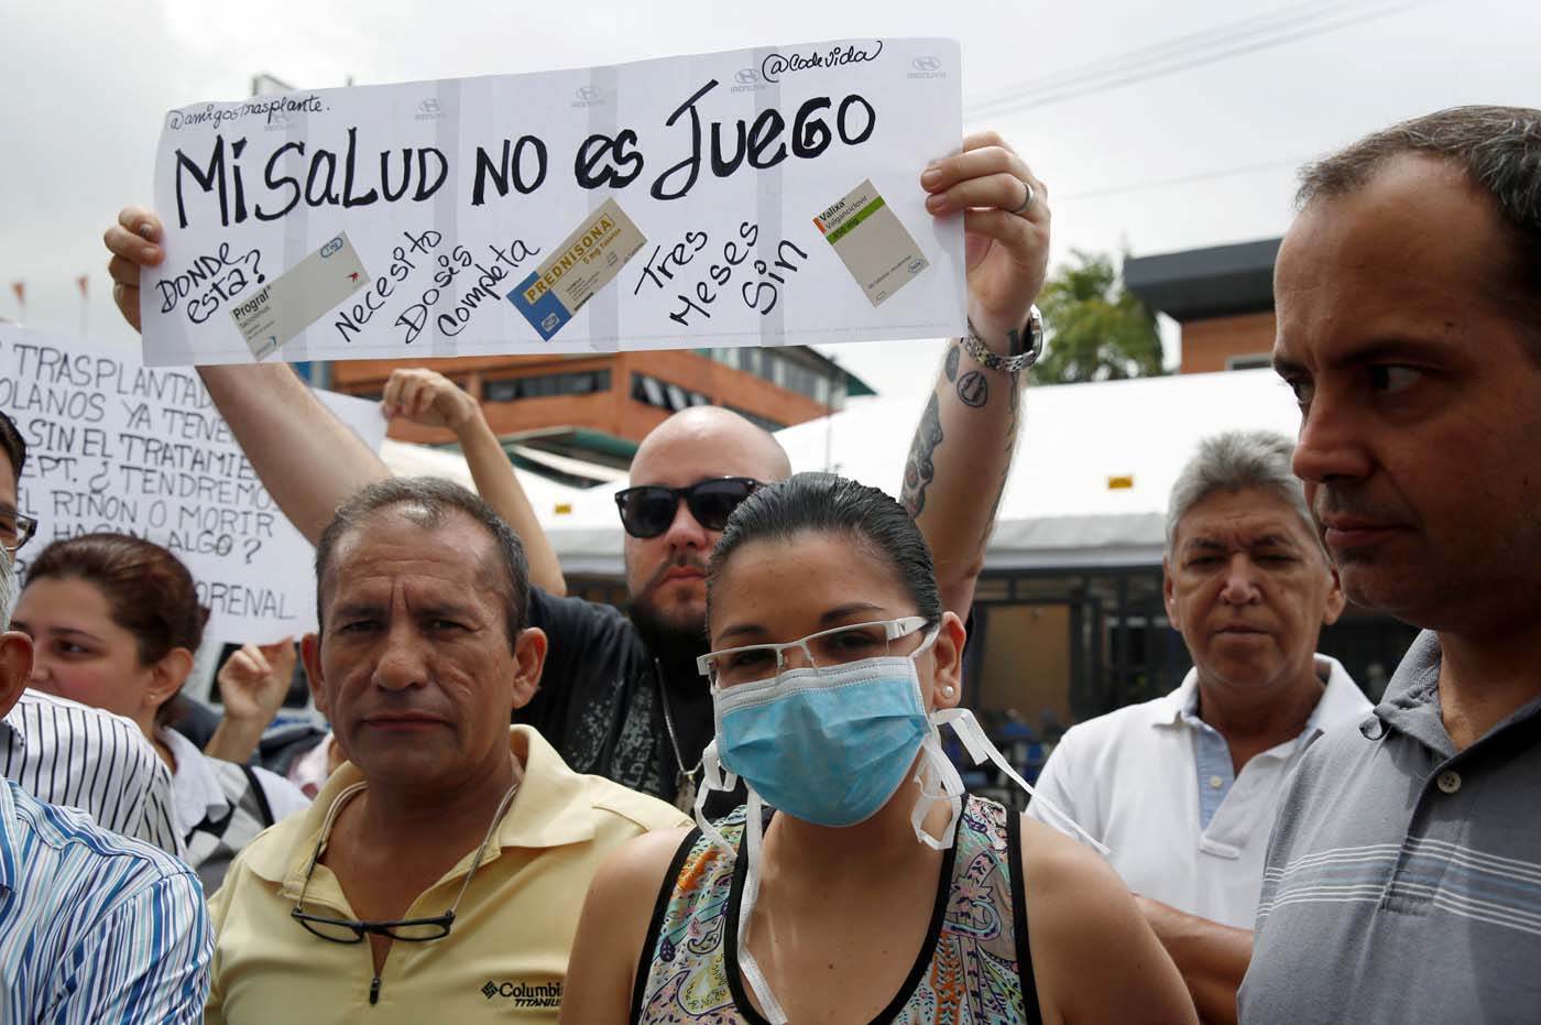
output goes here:
[{"label": "woman wearing blue surgical mask, glasses and patterned sleeveless top", "polygon": [[750,495],[707,626],[707,778],[749,803],[599,871],[564,1023],[1196,1020],[1105,862],[963,792],[940,723],[1026,783],[957,707],[963,624],[898,502],[821,473]]}]

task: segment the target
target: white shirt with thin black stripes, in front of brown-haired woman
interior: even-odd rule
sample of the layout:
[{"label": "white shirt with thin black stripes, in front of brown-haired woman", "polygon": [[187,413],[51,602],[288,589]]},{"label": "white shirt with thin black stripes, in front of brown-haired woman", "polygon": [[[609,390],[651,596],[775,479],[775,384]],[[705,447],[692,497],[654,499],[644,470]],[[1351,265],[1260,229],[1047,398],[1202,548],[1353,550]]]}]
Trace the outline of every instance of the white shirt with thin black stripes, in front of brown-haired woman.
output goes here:
[{"label": "white shirt with thin black stripes, in front of brown-haired woman", "polygon": [[0,777],[49,805],[79,808],[103,829],[183,854],[171,771],[120,715],[23,691],[0,720]]}]

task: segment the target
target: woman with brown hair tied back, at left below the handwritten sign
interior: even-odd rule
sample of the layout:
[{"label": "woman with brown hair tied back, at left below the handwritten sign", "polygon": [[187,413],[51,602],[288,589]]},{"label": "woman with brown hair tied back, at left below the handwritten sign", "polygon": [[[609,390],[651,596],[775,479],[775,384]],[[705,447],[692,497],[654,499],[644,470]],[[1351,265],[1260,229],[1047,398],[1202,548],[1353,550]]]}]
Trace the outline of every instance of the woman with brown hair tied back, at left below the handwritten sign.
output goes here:
[{"label": "woman with brown hair tied back, at left below the handwritten sign", "polygon": [[188,863],[214,892],[236,851],[310,802],[273,772],[205,757],[166,726],[206,620],[193,575],[171,552],[88,533],[49,544],[28,567],[12,626],[32,637],[29,687],[139,724],[171,768]]}]

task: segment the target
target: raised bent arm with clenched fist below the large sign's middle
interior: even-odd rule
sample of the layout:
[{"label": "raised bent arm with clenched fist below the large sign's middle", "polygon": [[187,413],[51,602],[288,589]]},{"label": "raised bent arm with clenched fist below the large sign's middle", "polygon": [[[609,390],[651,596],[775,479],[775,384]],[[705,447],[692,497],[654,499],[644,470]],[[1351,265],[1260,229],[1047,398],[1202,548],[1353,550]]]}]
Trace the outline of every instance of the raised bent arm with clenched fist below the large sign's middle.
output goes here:
[{"label": "raised bent arm with clenched fist below the large sign's middle", "polygon": [[404,416],[415,424],[455,432],[461,452],[465,453],[465,465],[476,481],[476,493],[498,510],[524,543],[530,583],[549,593],[566,595],[567,581],[556,561],[556,549],[541,529],[502,444],[487,425],[481,404],[442,373],[416,368],[391,371],[381,405],[385,416]]}]

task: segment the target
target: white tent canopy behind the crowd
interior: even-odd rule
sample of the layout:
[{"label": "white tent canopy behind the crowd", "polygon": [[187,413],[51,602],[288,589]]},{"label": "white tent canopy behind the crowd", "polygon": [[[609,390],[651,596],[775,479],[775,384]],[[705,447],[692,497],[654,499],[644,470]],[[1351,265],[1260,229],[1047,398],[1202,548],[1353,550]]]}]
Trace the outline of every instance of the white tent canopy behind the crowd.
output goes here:
[{"label": "white tent canopy behind the crowd", "polygon": [[[991,569],[1159,563],[1167,496],[1200,438],[1233,428],[1293,438],[1299,427],[1294,396],[1271,370],[1029,387],[1022,412]],[[794,470],[834,470],[897,495],[918,418],[914,401],[857,399],[777,438]],[[575,492],[570,513],[536,502],[567,572],[621,572],[619,487]],[[994,498],[991,481],[979,496]]]}]

